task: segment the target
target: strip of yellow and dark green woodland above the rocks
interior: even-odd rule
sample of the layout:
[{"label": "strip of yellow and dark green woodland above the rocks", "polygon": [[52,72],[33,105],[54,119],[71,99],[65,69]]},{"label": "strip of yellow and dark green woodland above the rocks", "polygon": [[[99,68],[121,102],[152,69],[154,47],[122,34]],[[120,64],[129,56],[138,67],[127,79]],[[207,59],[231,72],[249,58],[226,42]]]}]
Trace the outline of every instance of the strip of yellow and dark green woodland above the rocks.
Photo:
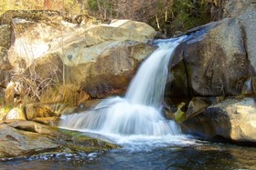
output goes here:
[{"label": "strip of yellow and dark green woodland above the rocks", "polygon": [[69,16],[131,19],[170,36],[219,20],[222,3],[222,0],[2,0],[0,15],[6,10],[57,10]]}]

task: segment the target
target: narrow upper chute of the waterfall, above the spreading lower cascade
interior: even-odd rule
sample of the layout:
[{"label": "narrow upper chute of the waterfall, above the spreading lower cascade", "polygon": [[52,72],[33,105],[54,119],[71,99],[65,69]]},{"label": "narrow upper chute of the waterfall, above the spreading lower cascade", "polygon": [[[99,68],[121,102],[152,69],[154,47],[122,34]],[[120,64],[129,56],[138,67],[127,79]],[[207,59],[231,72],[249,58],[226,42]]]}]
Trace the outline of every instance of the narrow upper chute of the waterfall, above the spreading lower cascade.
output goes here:
[{"label": "narrow upper chute of the waterfall, above the spreading lower cascade", "polygon": [[168,63],[176,46],[183,38],[184,36],[170,39],[167,42],[158,42],[159,48],[141,65],[126,92],[125,99],[130,104],[148,105],[155,108],[161,106],[168,76]]}]

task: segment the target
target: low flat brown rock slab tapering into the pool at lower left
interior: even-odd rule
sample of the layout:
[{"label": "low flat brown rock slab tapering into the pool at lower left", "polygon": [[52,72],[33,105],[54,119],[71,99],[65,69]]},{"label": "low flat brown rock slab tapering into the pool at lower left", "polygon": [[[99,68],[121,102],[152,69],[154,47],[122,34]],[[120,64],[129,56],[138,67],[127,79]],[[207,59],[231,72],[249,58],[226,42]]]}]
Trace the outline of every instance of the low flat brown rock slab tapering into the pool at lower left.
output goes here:
[{"label": "low flat brown rock slab tapering into the pool at lower left", "polygon": [[113,147],[116,145],[81,135],[78,132],[59,130],[53,126],[31,121],[0,122],[0,162],[5,158],[63,152],[88,153]]}]

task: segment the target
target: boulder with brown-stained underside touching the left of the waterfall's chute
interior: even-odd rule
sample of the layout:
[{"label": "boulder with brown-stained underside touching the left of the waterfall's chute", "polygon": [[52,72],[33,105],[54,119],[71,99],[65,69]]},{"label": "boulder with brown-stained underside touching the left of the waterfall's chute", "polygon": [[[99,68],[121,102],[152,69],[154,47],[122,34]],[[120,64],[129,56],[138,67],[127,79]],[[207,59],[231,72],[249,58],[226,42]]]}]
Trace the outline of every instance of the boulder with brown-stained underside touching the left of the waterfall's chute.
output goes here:
[{"label": "boulder with brown-stained underside touching the left of the waterfall's chute", "polygon": [[[139,63],[154,49],[150,45],[131,41],[105,42],[81,49],[80,56],[88,56],[91,60],[84,57],[77,65],[67,65],[66,81],[81,85],[91,97],[103,97],[115,90],[123,91]],[[72,56],[76,60],[77,54],[73,53]]]}]

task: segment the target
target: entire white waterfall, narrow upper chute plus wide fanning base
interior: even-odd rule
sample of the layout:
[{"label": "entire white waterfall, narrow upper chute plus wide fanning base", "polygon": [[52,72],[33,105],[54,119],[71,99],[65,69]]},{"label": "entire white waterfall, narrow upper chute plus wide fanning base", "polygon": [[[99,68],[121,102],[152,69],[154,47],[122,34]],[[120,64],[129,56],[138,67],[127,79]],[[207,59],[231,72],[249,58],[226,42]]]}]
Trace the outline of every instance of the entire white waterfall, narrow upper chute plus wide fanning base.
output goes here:
[{"label": "entire white waterfall, narrow upper chute plus wide fanning base", "polygon": [[100,135],[180,135],[178,125],[161,113],[161,104],[169,60],[184,38],[155,42],[159,47],[141,65],[124,98],[108,98],[90,111],[62,115],[59,126]]}]

